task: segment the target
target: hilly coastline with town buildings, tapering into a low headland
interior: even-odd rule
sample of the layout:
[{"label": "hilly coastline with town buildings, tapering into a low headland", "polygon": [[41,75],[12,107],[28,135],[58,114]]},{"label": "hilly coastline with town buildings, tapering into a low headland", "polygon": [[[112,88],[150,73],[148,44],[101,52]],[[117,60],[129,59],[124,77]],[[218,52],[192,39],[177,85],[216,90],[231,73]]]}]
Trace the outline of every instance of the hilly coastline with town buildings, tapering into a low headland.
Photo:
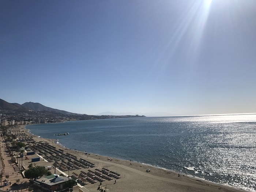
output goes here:
[{"label": "hilly coastline with town buildings, tapering into a low headland", "polygon": [[[8,103],[0,99],[0,122],[7,125],[23,125],[35,123],[59,123],[64,121],[74,120],[96,120],[110,118],[131,118],[131,117],[146,117],[144,115],[88,115],[71,113],[64,110],[53,109],[46,107],[40,103],[26,102],[20,105],[19,103]],[[17,123],[19,122],[19,123]]]}]

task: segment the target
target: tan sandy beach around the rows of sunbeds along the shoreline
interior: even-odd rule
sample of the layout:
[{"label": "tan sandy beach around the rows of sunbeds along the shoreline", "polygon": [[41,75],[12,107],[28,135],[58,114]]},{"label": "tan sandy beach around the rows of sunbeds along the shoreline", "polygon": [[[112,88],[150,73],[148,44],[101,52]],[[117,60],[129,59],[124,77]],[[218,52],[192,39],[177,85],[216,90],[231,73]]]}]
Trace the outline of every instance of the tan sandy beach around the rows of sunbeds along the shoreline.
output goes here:
[{"label": "tan sandy beach around the rows of sunbeds along the shoreline", "polygon": [[[178,175],[176,172],[172,172],[169,170],[159,169],[157,167],[144,165],[141,163],[136,163],[133,161],[125,161],[120,159],[114,159],[112,157],[104,157],[95,154],[85,154],[82,151],[69,150],[67,148],[63,148],[63,146],[56,144],[52,139],[39,138],[36,135],[31,135],[28,129],[25,126],[20,126],[18,128],[11,129],[12,134],[17,135],[17,138],[22,138],[26,140],[25,142],[27,146],[31,146],[31,149],[37,146],[52,146],[56,150],[62,151],[63,154],[71,154],[74,157],[79,159],[84,159],[90,163],[93,163],[95,167],[90,168],[82,168],[75,170],[64,170],[60,169],[56,170],[56,174],[80,174],[81,171],[88,172],[97,170],[102,170],[102,168],[108,169],[114,173],[120,175],[120,178],[105,180],[100,185],[99,182],[95,182],[94,184],[88,183],[86,185],[78,185],[78,187],[74,188],[75,192],[79,191],[81,188],[84,192],[91,191],[97,192],[98,187],[102,189],[107,189],[109,192],[121,192],[121,191],[130,191],[130,192],[148,192],[148,191],[156,191],[156,192],[238,192],[244,191],[240,189],[231,188],[224,185],[218,185],[211,182],[207,182],[205,180],[200,180],[198,178],[193,178],[186,175]],[[44,145],[42,145],[44,143]],[[7,153],[5,153],[6,147],[4,143],[4,139],[1,138],[1,156],[3,157],[4,162],[4,173],[3,179],[6,174],[9,174],[9,180],[11,183],[15,183],[16,179],[19,178],[20,182],[24,183],[29,180],[22,177],[22,174],[18,172],[17,165],[11,163],[11,157]],[[29,155],[30,159],[25,160],[25,157],[22,160],[22,165],[27,167],[31,163],[31,158],[38,157],[39,152],[35,151],[36,154]],[[58,158],[58,155],[51,154]],[[47,156],[47,155],[46,155]],[[40,161],[35,162],[38,166],[52,166],[53,162],[48,162],[44,155],[39,155]],[[73,161],[73,160],[71,160]],[[61,163],[61,160],[58,161]],[[66,161],[68,162],[68,160]],[[19,163],[19,162],[18,162]],[[11,165],[12,164],[12,165]],[[14,167],[14,166],[15,167]],[[150,172],[146,172],[147,169],[150,169]],[[50,169],[52,173],[54,173],[54,169]],[[12,174],[14,173],[14,174]],[[115,181],[116,180],[116,181]],[[26,186],[24,186],[24,191]],[[17,190],[15,186],[6,186],[1,188],[3,191],[6,191],[6,188],[10,190]]]}]

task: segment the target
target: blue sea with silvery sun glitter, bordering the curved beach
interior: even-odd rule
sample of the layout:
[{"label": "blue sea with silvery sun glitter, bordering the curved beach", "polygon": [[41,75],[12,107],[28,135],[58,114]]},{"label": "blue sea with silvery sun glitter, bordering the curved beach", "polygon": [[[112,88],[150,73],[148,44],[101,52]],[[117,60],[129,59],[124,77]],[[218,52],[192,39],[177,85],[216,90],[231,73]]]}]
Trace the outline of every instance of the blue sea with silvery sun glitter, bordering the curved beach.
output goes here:
[{"label": "blue sea with silvery sun glitter, bordering the curved beach", "polygon": [[256,114],[69,121],[26,128],[74,150],[256,191]]}]

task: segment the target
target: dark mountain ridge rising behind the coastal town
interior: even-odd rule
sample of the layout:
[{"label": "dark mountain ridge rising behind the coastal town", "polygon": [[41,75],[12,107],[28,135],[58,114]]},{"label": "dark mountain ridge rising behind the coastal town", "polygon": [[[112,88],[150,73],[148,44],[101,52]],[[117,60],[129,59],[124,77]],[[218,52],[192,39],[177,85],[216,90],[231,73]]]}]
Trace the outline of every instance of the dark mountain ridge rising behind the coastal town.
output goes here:
[{"label": "dark mountain ridge rising behind the coastal town", "polygon": [[53,109],[46,107],[40,103],[33,103],[33,102],[26,102],[20,105],[19,103],[8,103],[7,101],[4,101],[3,99],[0,99],[0,110],[2,111],[29,111],[29,110],[35,110],[35,111],[51,111],[51,112],[58,112],[61,114],[75,114],[71,112],[67,112],[64,110],[59,109]]}]

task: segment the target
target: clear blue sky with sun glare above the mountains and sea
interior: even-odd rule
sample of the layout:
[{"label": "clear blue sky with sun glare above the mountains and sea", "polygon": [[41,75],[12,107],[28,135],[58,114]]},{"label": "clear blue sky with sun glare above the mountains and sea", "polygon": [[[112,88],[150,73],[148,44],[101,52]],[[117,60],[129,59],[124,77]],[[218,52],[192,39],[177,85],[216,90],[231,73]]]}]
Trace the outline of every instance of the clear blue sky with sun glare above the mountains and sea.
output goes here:
[{"label": "clear blue sky with sun glare above the mountains and sea", "polygon": [[74,113],[255,113],[256,0],[1,0],[0,82]]}]

